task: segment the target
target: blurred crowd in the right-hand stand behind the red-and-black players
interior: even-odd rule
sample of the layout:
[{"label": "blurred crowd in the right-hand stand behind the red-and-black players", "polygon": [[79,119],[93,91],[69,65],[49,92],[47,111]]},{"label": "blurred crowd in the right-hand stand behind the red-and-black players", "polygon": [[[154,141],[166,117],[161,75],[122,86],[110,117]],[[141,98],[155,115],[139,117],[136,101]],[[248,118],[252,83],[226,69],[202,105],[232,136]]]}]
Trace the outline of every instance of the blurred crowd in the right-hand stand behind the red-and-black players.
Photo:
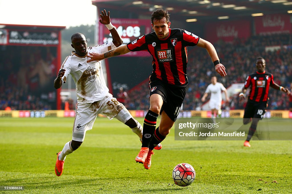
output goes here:
[{"label": "blurred crowd in the right-hand stand behind the red-and-black players", "polygon": [[[255,62],[258,56],[266,60],[266,70],[274,75],[274,81],[290,88],[292,82],[292,54],[291,34],[281,36],[252,36],[248,40],[234,39],[226,43],[218,41],[214,46],[218,52],[220,61],[227,70],[227,76],[217,76],[211,59],[204,50],[189,47],[187,74],[189,84],[183,109],[201,110],[203,96],[206,87],[210,84],[211,76],[217,76],[218,82],[228,88],[233,83],[244,83],[248,74],[255,70]],[[278,48],[277,48],[278,47]],[[277,48],[277,49],[276,49]],[[288,96],[283,92],[271,89],[269,97],[269,109],[288,110]],[[140,87],[128,92],[129,98],[125,106],[130,110],[147,110],[149,108],[149,85],[144,82]],[[223,102],[222,109],[244,109],[245,102],[239,102],[238,95],[230,97],[230,102]]]}]

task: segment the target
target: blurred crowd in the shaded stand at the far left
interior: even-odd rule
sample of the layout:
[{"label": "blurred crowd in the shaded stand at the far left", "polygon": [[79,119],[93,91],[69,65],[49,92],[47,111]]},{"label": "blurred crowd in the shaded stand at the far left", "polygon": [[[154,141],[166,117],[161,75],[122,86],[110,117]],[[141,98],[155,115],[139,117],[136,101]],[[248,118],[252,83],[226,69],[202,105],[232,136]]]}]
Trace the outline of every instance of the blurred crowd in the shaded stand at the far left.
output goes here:
[{"label": "blurred crowd in the shaded stand at the far left", "polygon": [[[0,61],[0,110],[55,109],[54,48],[3,46],[1,49],[7,51],[0,52],[0,58],[4,59]],[[19,56],[15,57],[15,53]]]}]

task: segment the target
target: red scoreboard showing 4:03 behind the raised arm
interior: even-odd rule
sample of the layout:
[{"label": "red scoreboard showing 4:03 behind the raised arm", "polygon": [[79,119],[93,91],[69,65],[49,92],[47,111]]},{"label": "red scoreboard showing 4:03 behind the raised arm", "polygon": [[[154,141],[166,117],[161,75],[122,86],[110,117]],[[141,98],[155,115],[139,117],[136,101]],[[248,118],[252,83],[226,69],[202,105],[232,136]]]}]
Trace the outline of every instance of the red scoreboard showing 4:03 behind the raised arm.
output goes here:
[{"label": "red scoreboard showing 4:03 behind the raised arm", "polygon": [[[111,18],[111,23],[117,29],[118,33],[123,39],[123,44],[128,44],[144,34],[152,32],[151,21],[141,19],[123,19],[123,18]],[[103,44],[112,41],[112,36],[109,30],[104,25],[99,25],[98,44]],[[149,57],[150,54],[145,51],[130,52],[125,57]]]}]

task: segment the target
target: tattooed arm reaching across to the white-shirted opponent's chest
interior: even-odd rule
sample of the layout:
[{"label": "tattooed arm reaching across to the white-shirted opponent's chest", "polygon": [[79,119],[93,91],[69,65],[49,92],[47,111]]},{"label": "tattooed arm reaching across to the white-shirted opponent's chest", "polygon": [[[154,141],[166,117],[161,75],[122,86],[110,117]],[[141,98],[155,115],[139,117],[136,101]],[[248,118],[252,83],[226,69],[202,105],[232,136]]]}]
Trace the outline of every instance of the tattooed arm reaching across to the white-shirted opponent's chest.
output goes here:
[{"label": "tattooed arm reaching across to the white-shirted opponent's chest", "polygon": [[89,57],[90,60],[87,60],[87,62],[100,61],[100,60],[103,60],[105,58],[124,55],[124,54],[126,54],[128,52],[130,52],[130,50],[128,49],[127,45],[123,45],[123,46],[119,46],[117,48],[114,48],[114,49],[109,50],[106,53],[102,53],[102,54],[100,54],[100,53],[88,53],[87,57]]}]

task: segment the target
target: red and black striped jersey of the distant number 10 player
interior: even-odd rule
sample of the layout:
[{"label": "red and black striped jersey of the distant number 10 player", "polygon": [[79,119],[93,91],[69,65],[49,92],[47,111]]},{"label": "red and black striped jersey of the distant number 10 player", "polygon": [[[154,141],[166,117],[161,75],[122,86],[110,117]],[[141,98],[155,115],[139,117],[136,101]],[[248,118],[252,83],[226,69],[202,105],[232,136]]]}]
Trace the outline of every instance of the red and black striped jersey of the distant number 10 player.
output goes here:
[{"label": "red and black striped jersey of the distant number 10 player", "polygon": [[268,100],[270,85],[274,84],[274,76],[266,71],[263,73],[253,73],[247,76],[244,84],[245,88],[251,87],[248,99],[255,102],[265,102]]}]

